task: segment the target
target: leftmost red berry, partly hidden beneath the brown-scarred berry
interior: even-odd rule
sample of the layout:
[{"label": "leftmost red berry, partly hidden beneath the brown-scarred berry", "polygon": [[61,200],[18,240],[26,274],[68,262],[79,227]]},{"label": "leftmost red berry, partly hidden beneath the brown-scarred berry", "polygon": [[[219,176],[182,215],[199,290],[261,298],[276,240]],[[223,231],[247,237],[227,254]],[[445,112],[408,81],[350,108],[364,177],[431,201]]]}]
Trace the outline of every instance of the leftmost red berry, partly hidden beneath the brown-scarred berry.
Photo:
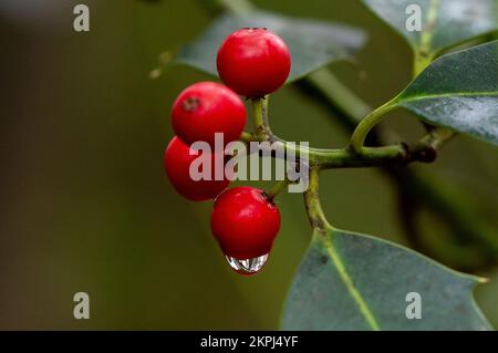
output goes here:
[{"label": "leftmost red berry, partly hidden beneath the brown-scarred berry", "polygon": [[211,180],[194,180],[190,178],[190,164],[201,152],[193,150],[177,136],[173,137],[164,153],[164,168],[175,190],[193,201],[214,199],[225,190],[230,180],[225,176],[222,180],[215,180],[215,155],[211,154]]}]

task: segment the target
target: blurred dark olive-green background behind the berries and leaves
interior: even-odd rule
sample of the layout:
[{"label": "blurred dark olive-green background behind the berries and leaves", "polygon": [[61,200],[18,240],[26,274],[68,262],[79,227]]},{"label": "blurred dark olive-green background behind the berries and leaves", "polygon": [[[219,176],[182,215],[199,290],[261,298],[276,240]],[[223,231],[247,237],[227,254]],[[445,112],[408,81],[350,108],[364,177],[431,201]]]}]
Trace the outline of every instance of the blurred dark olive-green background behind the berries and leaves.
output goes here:
[{"label": "blurred dark olive-green background behind the berries and leaves", "polygon": [[[73,7],[82,2],[91,10],[90,33],[72,29]],[[177,196],[163,170],[174,98],[210,77],[183,66],[157,80],[148,73],[159,53],[210,22],[201,2],[1,1],[0,329],[278,328],[311,233],[302,197],[279,197],[283,222],[269,263],[240,277],[210,236],[211,204]],[[407,45],[359,1],[253,2],[366,30],[356,68],[331,68],[372,105],[411,79]],[[401,135],[423,132],[409,115],[397,116],[387,124]],[[347,138],[294,87],[273,95],[271,122],[289,141],[330,147]],[[460,136],[422,168],[486,200],[496,224],[496,147]],[[395,189],[378,170],[328,172],[322,198],[335,226],[406,243]],[[437,217],[426,218],[425,229],[437,230]],[[491,282],[477,300],[498,325],[498,272],[491,266],[479,273]],[[79,291],[90,294],[90,320],[73,318]]]}]

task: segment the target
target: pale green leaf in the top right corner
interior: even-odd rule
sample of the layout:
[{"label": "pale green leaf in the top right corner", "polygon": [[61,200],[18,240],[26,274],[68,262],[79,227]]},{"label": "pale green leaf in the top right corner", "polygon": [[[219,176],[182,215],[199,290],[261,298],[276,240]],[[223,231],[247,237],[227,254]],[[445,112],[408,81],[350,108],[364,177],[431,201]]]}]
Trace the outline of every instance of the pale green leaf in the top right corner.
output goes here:
[{"label": "pale green leaf in the top right corner", "polygon": [[[498,30],[498,0],[363,0],[363,3],[421,56],[434,58],[445,49]],[[422,31],[407,30],[406,22],[414,13],[411,6],[421,9]]]}]

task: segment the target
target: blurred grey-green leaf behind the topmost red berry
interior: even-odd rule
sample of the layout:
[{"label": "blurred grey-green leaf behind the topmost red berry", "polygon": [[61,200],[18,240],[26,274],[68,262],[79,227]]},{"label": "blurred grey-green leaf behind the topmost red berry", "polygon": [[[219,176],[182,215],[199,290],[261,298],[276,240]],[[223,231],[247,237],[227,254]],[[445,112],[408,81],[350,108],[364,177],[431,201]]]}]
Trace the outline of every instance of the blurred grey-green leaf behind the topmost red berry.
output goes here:
[{"label": "blurred grey-green leaf behind the topmost red berry", "polygon": [[241,28],[268,28],[289,45],[292,69],[288,82],[295,81],[332,61],[352,58],[365,42],[364,32],[314,20],[283,17],[266,11],[226,13],[194,42],[183,48],[176,61],[217,75],[216,56],[224,40]]}]

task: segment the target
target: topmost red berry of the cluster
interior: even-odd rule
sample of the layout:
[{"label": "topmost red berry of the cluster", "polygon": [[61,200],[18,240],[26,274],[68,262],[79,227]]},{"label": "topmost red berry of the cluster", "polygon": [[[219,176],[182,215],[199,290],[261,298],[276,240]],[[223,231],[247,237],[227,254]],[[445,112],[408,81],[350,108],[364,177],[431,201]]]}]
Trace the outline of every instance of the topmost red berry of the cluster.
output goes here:
[{"label": "topmost red berry of the cluster", "polygon": [[241,29],[231,33],[218,51],[221,81],[238,94],[259,98],[280,89],[289,76],[289,48],[266,29]]}]

